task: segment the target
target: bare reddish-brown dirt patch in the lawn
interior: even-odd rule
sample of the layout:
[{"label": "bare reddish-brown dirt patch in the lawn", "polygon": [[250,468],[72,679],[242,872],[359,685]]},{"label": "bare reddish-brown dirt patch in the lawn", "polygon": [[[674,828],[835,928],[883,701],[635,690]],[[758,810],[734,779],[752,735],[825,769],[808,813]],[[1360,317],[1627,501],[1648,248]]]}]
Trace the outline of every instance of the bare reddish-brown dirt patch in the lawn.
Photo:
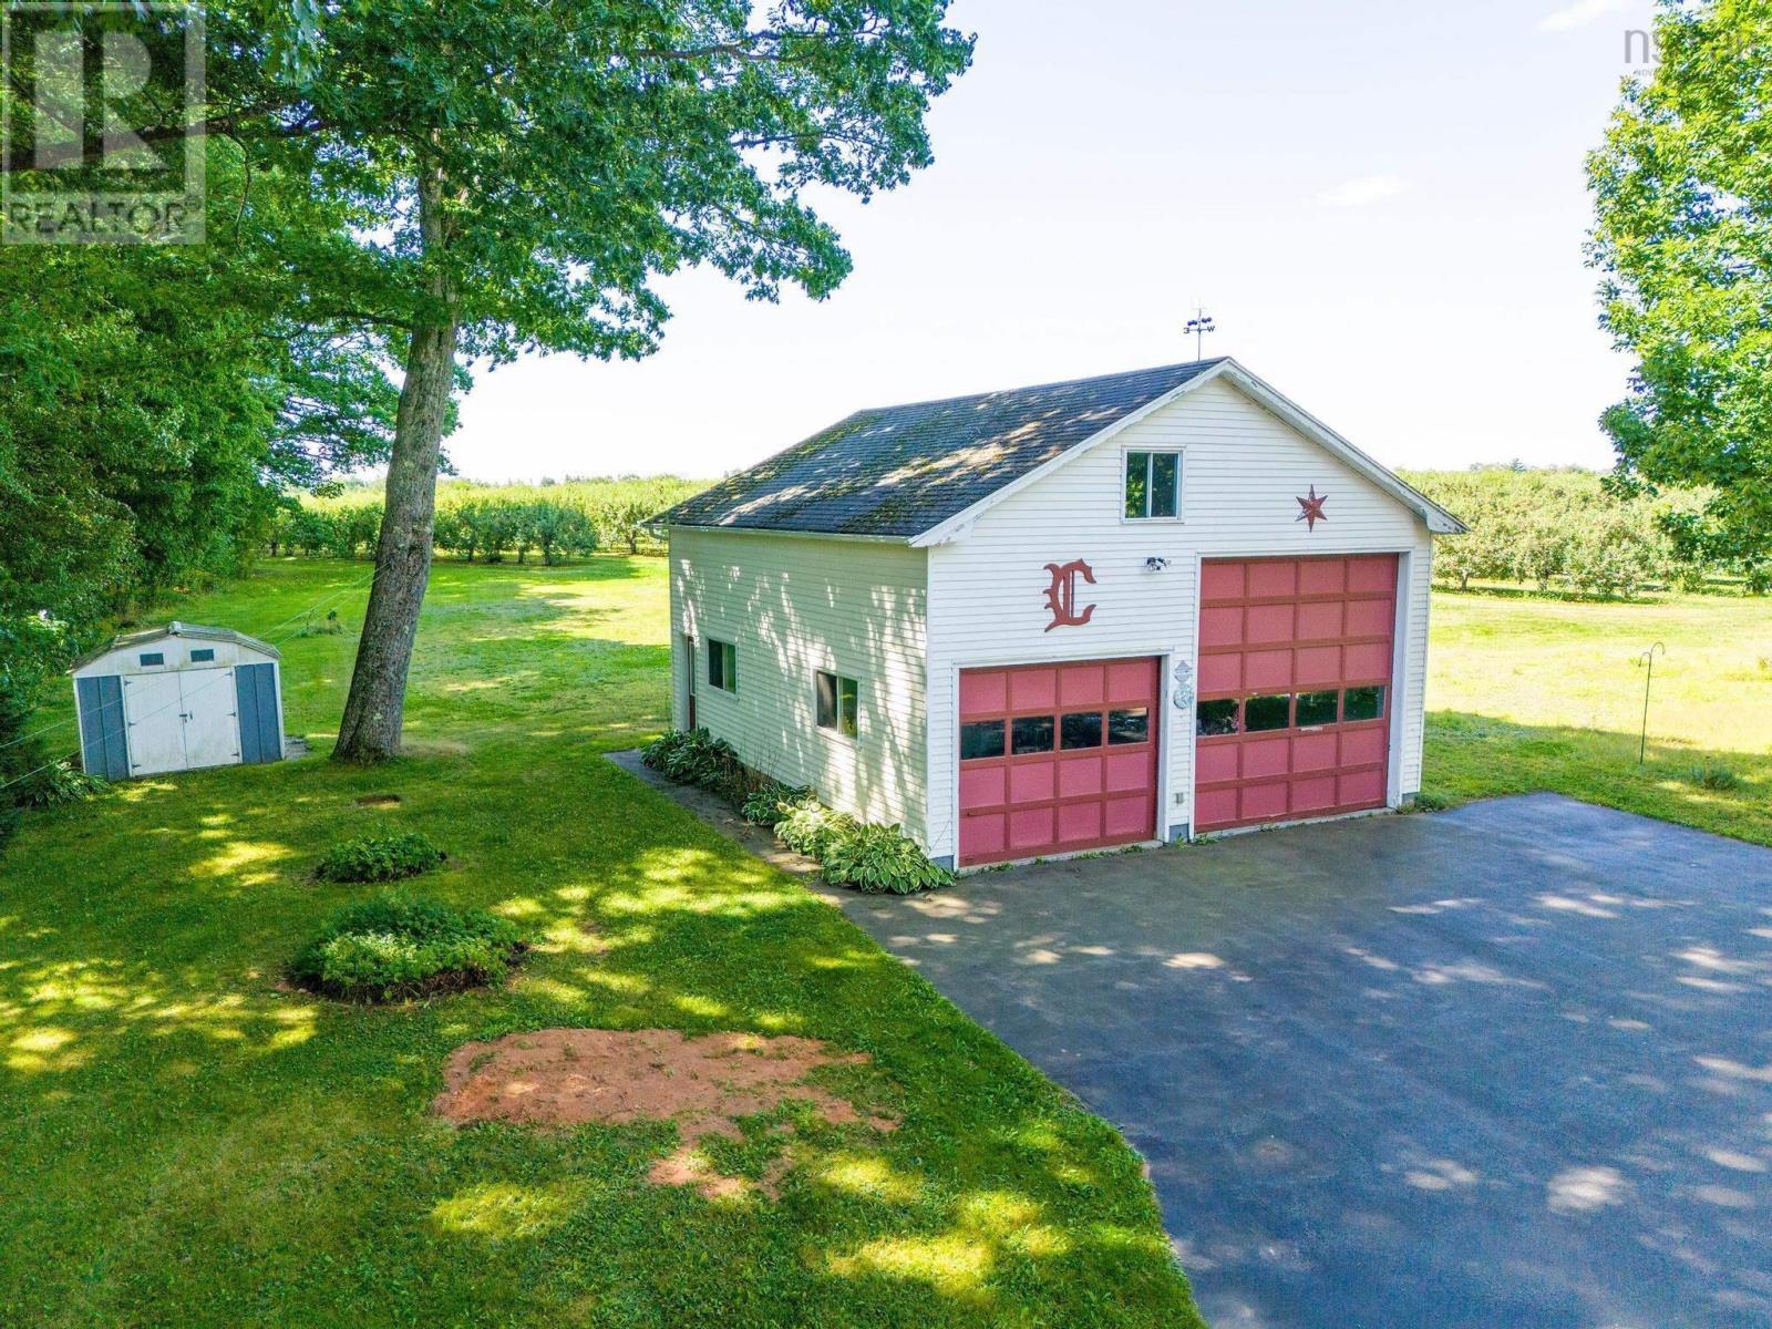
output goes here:
[{"label": "bare reddish-brown dirt patch in the lawn", "polygon": [[656,1185],[693,1185],[703,1196],[780,1193],[790,1159],[790,1123],[774,1127],[783,1152],[760,1180],[721,1175],[700,1145],[744,1141],[739,1118],[801,1102],[831,1125],[897,1122],[865,1116],[852,1102],[806,1077],[820,1067],[865,1065],[867,1053],[838,1053],[815,1038],[755,1033],[688,1037],[677,1030],[537,1030],[462,1044],[443,1067],[432,1111],[450,1122],[514,1122],[539,1127],[673,1122],[677,1148],[652,1164]]}]

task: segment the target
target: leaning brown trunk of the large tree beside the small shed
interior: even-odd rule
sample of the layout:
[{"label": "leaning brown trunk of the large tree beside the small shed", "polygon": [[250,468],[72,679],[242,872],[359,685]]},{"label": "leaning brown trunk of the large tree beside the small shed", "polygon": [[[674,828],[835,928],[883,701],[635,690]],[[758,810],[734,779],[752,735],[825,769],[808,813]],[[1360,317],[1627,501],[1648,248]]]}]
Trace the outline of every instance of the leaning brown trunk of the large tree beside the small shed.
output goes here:
[{"label": "leaning brown trunk of the large tree beside the small shed", "polygon": [[[425,250],[441,255],[445,243],[441,186],[418,183]],[[406,383],[393,427],[388,491],[383,500],[376,579],[356,645],[351,696],[338,727],[337,762],[381,762],[400,753],[406,718],[406,672],[418,636],[418,610],[431,579],[431,542],[436,519],[438,457],[450,392],[455,386],[459,335],[455,287],[445,273],[431,280],[425,312],[413,328],[406,353]]]}]

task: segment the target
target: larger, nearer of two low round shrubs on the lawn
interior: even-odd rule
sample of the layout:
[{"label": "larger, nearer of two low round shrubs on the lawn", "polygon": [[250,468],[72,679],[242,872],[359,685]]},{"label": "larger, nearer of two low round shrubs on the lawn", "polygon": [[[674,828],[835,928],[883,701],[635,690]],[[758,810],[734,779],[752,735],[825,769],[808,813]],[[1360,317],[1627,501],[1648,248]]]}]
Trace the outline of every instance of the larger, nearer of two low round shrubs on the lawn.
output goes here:
[{"label": "larger, nearer of two low round shrubs on the lawn", "polygon": [[498,982],[523,950],[516,923],[484,909],[386,893],[333,914],[289,976],[344,1001],[404,1001]]}]

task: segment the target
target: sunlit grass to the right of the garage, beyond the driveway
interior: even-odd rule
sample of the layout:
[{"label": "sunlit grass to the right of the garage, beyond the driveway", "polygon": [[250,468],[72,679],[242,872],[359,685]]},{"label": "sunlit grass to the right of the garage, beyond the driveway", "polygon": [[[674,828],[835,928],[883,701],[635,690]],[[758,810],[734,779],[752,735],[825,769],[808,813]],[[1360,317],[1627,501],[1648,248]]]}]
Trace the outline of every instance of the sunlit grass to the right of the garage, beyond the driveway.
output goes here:
[{"label": "sunlit grass to the right of the garage, beyond the driveway", "polygon": [[1549,789],[1772,845],[1772,599],[1435,595],[1432,633],[1430,792]]}]

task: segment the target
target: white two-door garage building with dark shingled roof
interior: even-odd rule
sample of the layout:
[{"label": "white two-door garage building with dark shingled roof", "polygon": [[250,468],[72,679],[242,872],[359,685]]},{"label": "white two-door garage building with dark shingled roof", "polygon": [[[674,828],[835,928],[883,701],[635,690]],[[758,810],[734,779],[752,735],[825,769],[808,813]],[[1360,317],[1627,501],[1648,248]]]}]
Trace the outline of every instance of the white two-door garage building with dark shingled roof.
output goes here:
[{"label": "white two-door garage building with dark shingled roof", "polygon": [[1464,528],[1233,360],[858,411],[657,523],[673,723],[936,859],[1419,789]]}]

